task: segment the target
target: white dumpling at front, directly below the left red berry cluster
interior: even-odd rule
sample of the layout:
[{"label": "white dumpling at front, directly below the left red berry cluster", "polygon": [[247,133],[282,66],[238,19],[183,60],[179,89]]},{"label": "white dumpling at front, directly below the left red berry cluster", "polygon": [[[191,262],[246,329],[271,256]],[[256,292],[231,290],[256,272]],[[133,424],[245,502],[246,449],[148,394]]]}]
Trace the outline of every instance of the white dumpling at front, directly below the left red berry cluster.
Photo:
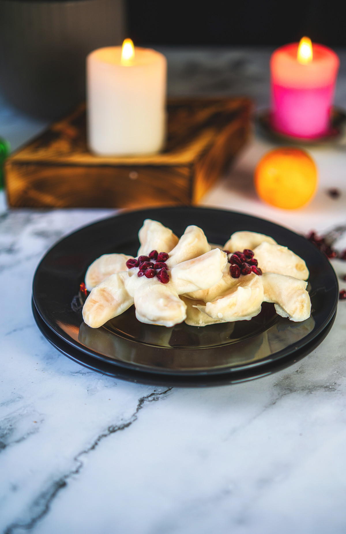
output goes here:
[{"label": "white dumpling at front, directly below the left red berry cluster", "polygon": [[156,279],[135,293],[136,317],[141,323],[171,327],[186,318],[186,304],[170,284]]}]

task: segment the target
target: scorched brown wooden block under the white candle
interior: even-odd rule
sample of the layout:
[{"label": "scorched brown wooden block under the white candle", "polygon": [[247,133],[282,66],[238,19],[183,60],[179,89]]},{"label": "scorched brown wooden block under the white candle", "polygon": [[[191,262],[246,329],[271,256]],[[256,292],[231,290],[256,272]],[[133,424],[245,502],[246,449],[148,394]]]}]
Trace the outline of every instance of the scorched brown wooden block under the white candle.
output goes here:
[{"label": "scorched brown wooden block under the white candle", "polygon": [[118,207],[198,202],[249,135],[247,98],[168,100],[168,139],[159,154],[89,152],[85,105],[6,160],[11,207]]}]

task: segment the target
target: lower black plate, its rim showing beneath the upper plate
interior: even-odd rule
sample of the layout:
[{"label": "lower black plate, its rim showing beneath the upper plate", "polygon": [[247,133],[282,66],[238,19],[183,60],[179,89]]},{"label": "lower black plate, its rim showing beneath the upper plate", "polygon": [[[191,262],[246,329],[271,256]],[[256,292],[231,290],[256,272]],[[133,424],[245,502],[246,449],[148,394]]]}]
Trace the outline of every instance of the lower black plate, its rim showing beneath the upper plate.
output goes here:
[{"label": "lower black plate, its rim showing beneath the upper plate", "polygon": [[226,384],[239,384],[240,382],[248,382],[249,380],[255,380],[267,376],[269,374],[281,371],[290,365],[298,362],[304,356],[307,356],[325,339],[333,326],[336,312],[332,319],[329,321],[326,328],[318,334],[310,343],[303,348],[298,349],[292,354],[277,360],[276,362],[269,362],[256,369],[248,368],[238,371],[237,369],[231,370],[229,373],[201,375],[201,376],[171,376],[167,374],[159,373],[146,373],[143,371],[136,371],[131,369],[125,369],[117,365],[112,365],[107,362],[103,362],[97,358],[93,358],[82,352],[81,350],[72,347],[61,337],[54,334],[54,332],[45,324],[44,320],[38,314],[34,302],[32,302],[33,314],[36,320],[38,328],[40,328],[45,338],[58,349],[62,354],[72,359],[74,362],[92,369],[101,374],[108,376],[114,376],[122,380],[128,380],[130,382],[138,382],[141,384],[153,384],[157,386],[175,386],[175,387],[207,387],[207,386],[224,386]]}]

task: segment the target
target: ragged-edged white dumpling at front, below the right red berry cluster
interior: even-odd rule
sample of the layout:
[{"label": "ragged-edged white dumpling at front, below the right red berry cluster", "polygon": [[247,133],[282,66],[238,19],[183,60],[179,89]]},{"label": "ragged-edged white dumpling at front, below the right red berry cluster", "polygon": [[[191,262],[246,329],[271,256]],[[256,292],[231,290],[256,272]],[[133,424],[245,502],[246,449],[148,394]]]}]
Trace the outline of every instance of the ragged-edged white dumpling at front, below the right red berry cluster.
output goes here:
[{"label": "ragged-edged white dumpling at front, below the right red berry cluster", "polygon": [[257,274],[247,274],[237,278],[237,284],[222,296],[205,306],[198,307],[214,319],[225,321],[250,320],[261,311],[263,285]]}]

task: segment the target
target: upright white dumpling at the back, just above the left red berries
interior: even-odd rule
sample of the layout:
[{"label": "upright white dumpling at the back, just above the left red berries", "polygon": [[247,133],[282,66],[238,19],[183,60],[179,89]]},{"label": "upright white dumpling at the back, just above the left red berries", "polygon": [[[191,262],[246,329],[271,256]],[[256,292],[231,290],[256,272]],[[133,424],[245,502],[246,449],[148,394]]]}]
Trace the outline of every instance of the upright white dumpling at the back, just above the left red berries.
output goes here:
[{"label": "upright white dumpling at the back, just above the left red berries", "polygon": [[152,250],[170,252],[178,242],[177,236],[169,228],[151,219],[145,219],[138,238],[140,247],[137,256],[146,256]]}]

